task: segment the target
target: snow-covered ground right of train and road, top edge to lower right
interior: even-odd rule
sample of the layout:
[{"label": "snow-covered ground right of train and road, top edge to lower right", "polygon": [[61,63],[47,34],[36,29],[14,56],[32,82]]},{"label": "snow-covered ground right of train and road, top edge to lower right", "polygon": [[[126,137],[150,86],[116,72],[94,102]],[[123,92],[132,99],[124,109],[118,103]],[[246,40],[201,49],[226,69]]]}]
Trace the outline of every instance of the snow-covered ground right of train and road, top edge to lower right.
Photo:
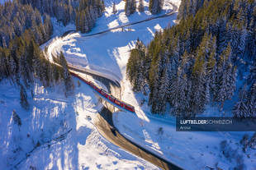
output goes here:
[{"label": "snow-covered ground right of train and road, top edge to lower right", "polygon": [[[148,1],[145,1],[145,13],[137,12],[129,17],[126,17],[123,11],[125,2],[115,0],[118,10],[116,15],[111,13],[112,1],[105,2],[107,11],[98,19],[96,27],[89,34],[150,17]],[[180,1],[171,2],[179,6]],[[168,2],[165,2],[164,7],[165,11],[162,13],[172,8],[168,6]],[[218,163],[233,168],[241,164],[238,163],[238,159],[244,162],[247,169],[255,169],[254,150],[244,154],[239,145],[244,132],[177,132],[174,117],[152,115],[146,104],[147,97],[143,94],[135,94],[131,90],[130,82],[126,80],[126,63],[130,49],[135,47],[136,39],[139,38],[148,44],[154,38],[155,31],[173,25],[175,19],[176,14],[93,37],[83,36],[87,34],[69,34],[64,39],[57,39],[51,44],[50,52],[63,51],[68,62],[119,77],[122,85],[122,100],[135,106],[136,115],[125,112],[114,113],[114,123],[122,134],[137,144],[186,169],[216,167]],[[145,103],[141,105],[144,99]],[[218,109],[209,106],[204,115],[212,116],[215,113],[219,113]],[[220,151],[220,142],[223,140],[228,141],[230,152],[235,152],[230,158],[225,158]]]}]

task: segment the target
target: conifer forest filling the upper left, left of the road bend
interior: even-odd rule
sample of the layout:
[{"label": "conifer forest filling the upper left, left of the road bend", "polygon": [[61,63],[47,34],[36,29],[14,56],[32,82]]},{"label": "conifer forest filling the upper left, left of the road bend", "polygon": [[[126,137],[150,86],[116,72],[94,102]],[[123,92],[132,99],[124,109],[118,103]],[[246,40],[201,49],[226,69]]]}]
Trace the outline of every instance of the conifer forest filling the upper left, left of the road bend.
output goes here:
[{"label": "conifer forest filling the upper left, left of the road bend", "polygon": [[63,82],[67,91],[73,89],[63,54],[59,56],[59,67],[40,50],[40,44],[53,34],[50,17],[64,25],[74,23],[77,30],[88,32],[102,11],[102,0],[13,0],[0,5],[0,80],[8,78],[20,87],[23,108],[29,108],[26,89],[35,79],[45,86]]}]

